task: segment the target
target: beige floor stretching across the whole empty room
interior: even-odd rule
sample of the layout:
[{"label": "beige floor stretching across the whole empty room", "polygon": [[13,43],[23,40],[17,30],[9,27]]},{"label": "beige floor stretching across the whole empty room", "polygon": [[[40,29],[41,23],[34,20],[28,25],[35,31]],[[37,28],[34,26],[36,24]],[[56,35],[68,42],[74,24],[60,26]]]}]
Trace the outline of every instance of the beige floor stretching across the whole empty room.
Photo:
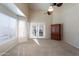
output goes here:
[{"label": "beige floor stretching across the whole empty room", "polygon": [[37,41],[29,39],[16,45],[3,56],[79,56],[79,49],[63,41],[45,39]]}]

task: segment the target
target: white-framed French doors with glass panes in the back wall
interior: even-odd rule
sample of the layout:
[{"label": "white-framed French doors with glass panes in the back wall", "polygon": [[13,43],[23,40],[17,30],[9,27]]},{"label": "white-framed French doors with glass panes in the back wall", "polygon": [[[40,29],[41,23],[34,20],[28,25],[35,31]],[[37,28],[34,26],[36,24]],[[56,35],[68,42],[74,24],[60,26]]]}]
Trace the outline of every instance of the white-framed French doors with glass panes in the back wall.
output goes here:
[{"label": "white-framed French doors with glass panes in the back wall", "polygon": [[30,37],[31,38],[45,38],[45,24],[44,23],[31,23],[30,24]]}]

